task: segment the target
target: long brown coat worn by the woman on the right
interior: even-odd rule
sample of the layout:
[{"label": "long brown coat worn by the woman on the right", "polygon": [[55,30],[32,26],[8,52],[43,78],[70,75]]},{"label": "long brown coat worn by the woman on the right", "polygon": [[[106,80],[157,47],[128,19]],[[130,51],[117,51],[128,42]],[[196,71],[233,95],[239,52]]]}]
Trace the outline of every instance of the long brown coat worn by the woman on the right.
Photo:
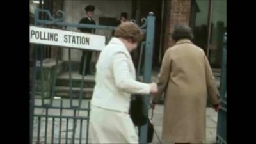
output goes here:
[{"label": "long brown coat worn by the woman on the right", "polygon": [[[157,85],[159,95],[165,92],[163,141],[204,141],[207,91],[212,104],[219,102],[204,51],[190,40],[179,40],[164,54]],[[155,97],[154,101],[159,98]]]}]

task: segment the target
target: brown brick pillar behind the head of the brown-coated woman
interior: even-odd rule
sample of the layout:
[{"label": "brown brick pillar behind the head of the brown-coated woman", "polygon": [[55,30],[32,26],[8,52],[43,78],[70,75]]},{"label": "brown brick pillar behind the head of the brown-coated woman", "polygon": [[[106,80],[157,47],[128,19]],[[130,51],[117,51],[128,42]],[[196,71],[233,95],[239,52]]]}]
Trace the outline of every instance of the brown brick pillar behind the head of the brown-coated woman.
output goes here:
[{"label": "brown brick pillar behind the head of the brown-coated woman", "polygon": [[190,19],[191,0],[171,0],[170,4],[171,9],[168,15],[170,19],[166,26],[168,34],[165,36],[166,40],[164,44],[164,51],[175,44],[171,37],[175,24],[189,24]]}]

